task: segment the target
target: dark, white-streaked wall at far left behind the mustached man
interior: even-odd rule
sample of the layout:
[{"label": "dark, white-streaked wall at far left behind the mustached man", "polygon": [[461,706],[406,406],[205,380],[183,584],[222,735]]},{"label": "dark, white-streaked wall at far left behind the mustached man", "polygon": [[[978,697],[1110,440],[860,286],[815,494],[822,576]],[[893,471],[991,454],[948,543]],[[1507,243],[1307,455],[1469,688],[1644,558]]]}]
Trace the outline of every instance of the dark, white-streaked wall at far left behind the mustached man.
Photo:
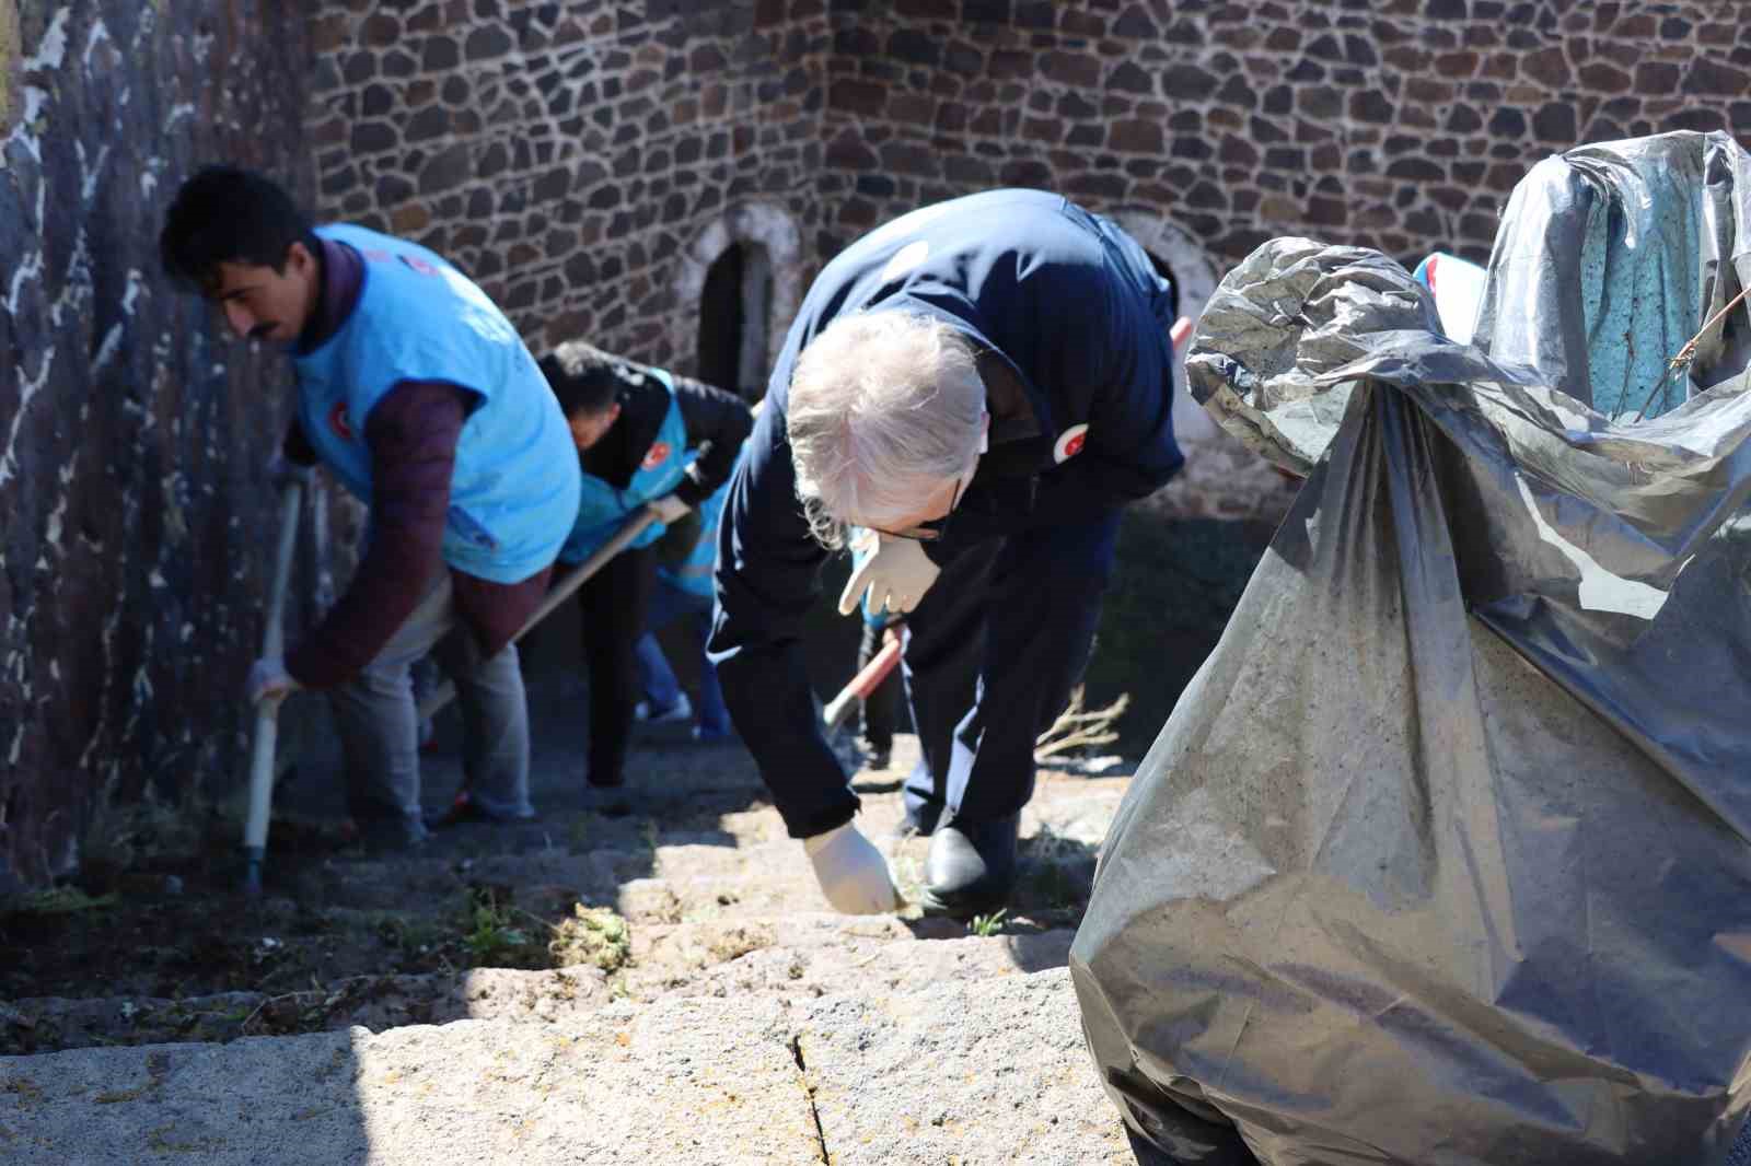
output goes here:
[{"label": "dark, white-streaked wall at far left behind the mustached man", "polygon": [[238,776],[287,380],[156,242],[219,156],[308,193],[287,7],[0,0],[0,888],[72,868],[114,807]]}]

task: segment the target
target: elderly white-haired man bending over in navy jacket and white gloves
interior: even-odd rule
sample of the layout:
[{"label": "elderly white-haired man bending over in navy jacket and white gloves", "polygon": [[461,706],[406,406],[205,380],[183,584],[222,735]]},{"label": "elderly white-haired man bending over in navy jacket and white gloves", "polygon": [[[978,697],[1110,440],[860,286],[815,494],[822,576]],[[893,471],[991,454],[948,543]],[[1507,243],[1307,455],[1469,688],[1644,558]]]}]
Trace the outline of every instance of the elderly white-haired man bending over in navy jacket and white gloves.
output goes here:
[{"label": "elderly white-haired man bending over in navy jacket and white gloves", "polygon": [[923,907],[989,910],[1016,882],[1033,742],[1087,664],[1119,508],[1182,464],[1173,317],[1135,240],[1044,191],[916,210],[809,289],[730,485],[711,655],[835,909],[898,896],[804,672],[825,557],[853,548],[842,613],[865,594],[907,613]]}]

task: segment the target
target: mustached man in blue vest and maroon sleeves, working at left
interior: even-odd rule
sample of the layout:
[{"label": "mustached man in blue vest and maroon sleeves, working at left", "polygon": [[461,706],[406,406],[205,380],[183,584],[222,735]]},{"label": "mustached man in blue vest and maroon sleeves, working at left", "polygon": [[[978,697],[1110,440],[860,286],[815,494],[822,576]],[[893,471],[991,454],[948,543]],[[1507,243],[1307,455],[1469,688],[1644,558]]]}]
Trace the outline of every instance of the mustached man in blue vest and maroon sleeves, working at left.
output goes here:
[{"label": "mustached man in blue vest and maroon sleeves, working at left", "polygon": [[517,329],[434,252],[357,226],[312,228],[280,186],[247,170],[184,182],[159,254],[236,336],[291,359],[296,413],[273,476],[308,478],[320,462],[369,504],[347,594],[284,658],[256,662],[249,702],[326,690],[362,840],[417,846],[408,669],[434,651],[466,727],[448,819],[532,818],[511,637],[546,594],[580,483],[566,418]]}]

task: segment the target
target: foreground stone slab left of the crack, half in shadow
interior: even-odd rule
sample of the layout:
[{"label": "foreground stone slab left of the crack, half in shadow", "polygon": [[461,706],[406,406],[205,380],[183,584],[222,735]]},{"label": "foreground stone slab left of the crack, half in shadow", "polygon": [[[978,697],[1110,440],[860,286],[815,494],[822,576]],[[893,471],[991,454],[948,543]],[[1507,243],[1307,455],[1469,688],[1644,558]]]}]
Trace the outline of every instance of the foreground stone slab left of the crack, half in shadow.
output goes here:
[{"label": "foreground stone slab left of the crack, half in shadow", "polygon": [[818,1157],[776,1001],[0,1057],[9,1166]]}]

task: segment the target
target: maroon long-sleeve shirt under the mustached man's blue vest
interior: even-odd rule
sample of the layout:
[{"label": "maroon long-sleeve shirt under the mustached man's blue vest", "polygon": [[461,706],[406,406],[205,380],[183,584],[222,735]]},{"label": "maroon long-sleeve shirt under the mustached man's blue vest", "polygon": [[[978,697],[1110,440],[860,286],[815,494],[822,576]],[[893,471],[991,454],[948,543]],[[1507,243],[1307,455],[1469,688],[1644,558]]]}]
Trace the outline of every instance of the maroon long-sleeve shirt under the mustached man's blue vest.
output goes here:
[{"label": "maroon long-sleeve shirt under the mustached man's blue vest", "polygon": [[[301,350],[327,341],[352,315],[364,285],[364,261],[345,243],[322,240],[317,310],[298,340]],[[452,383],[404,380],[364,422],[371,450],[371,544],[352,585],[327,618],[285,655],[285,671],[305,688],[341,685],[376,658],[436,571],[450,571],[455,613],[483,655],[494,655],[546,595],[552,567],[520,583],[494,583],[443,562],[450,476],[468,413],[480,397]],[[285,455],[313,462],[298,424]]]}]

